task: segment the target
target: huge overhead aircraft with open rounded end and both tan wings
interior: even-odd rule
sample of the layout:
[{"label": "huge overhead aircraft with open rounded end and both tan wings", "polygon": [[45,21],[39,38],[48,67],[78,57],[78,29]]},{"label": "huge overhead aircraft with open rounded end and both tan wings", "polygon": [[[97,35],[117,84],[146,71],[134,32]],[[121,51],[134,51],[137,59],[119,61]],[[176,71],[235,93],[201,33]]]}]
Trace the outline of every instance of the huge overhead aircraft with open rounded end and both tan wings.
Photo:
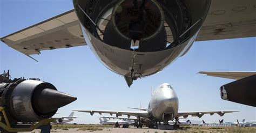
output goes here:
[{"label": "huge overhead aircraft with open rounded end and both tan wings", "polygon": [[185,55],[194,41],[256,36],[254,3],[73,0],[75,9],[1,41],[29,57],[43,50],[89,45],[99,61],[130,86]]}]

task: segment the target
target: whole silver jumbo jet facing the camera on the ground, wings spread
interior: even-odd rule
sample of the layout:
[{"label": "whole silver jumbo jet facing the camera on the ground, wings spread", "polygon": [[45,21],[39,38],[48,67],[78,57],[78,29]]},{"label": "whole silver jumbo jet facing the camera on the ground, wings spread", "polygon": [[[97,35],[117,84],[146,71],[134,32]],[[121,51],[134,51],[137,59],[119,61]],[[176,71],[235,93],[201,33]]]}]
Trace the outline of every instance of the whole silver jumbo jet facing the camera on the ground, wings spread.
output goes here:
[{"label": "whole silver jumbo jet facing the camera on the ground, wings spread", "polygon": [[[137,112],[129,112],[129,111],[106,111],[106,110],[74,110],[77,112],[85,112],[93,115],[94,113],[107,113],[107,114],[116,114],[116,117],[127,115],[128,118],[130,116],[138,117],[137,128],[142,127],[141,119],[147,119],[147,125],[152,128],[157,126],[157,122],[164,122],[168,124],[170,120],[176,120],[175,125],[177,125],[179,117],[188,117],[198,116],[201,117],[204,114],[213,115],[214,113],[223,116],[225,113],[232,113],[237,111],[213,111],[213,112],[178,112],[179,100],[176,95],[176,92],[173,90],[170,84],[164,83],[157,87],[156,92],[152,95],[148,109],[137,111]],[[139,108],[141,110],[141,108]]]}]

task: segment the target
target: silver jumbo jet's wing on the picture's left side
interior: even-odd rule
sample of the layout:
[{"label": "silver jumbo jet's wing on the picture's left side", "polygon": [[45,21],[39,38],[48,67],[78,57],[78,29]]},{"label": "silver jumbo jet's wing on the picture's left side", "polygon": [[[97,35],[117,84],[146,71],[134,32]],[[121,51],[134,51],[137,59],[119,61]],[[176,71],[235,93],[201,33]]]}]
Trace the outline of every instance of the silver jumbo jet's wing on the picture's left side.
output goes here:
[{"label": "silver jumbo jet's wing on the picture's left side", "polygon": [[116,117],[122,116],[122,115],[127,115],[128,117],[130,116],[149,117],[149,112],[147,111],[138,111],[138,112],[106,111],[106,110],[73,110],[73,111],[90,113],[91,115],[93,115],[94,113],[99,113],[100,115],[102,113],[105,113],[105,114],[110,114],[111,116],[113,114],[116,114]]}]

